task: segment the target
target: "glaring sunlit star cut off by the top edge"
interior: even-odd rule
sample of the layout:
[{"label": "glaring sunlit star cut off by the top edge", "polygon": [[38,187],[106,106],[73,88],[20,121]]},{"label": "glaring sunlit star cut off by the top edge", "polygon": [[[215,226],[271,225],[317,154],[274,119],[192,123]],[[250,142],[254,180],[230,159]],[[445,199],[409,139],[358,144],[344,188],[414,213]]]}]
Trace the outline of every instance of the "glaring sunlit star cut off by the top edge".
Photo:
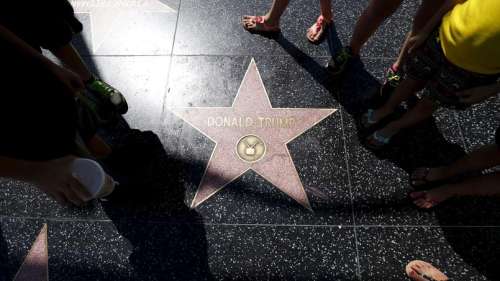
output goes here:
[{"label": "glaring sunlit star cut off by the top edge", "polygon": [[176,12],[159,0],[70,0],[70,3],[75,13],[90,15],[93,52],[99,49],[118,24],[136,20],[139,13]]}]

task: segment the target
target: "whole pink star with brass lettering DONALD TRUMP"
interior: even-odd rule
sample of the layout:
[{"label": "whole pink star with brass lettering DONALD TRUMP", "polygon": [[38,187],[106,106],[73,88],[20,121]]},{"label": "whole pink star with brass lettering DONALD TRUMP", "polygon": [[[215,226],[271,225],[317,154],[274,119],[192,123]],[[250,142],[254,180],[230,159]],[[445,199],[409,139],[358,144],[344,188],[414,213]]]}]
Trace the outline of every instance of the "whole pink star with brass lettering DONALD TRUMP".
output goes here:
[{"label": "whole pink star with brass lettering DONALD TRUMP", "polygon": [[170,110],[216,143],[193,208],[251,169],[311,210],[287,143],[335,109],[273,108],[252,59],[232,107]]}]

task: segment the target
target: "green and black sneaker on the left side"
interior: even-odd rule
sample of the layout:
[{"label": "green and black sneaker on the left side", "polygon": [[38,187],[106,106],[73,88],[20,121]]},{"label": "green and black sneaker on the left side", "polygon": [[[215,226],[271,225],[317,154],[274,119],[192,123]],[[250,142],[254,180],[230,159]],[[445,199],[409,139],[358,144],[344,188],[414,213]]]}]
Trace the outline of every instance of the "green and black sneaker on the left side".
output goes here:
[{"label": "green and black sneaker on the left side", "polygon": [[128,104],[125,97],[113,86],[94,76],[85,83],[85,87],[106,107],[111,106],[117,113],[122,115],[127,113]]}]

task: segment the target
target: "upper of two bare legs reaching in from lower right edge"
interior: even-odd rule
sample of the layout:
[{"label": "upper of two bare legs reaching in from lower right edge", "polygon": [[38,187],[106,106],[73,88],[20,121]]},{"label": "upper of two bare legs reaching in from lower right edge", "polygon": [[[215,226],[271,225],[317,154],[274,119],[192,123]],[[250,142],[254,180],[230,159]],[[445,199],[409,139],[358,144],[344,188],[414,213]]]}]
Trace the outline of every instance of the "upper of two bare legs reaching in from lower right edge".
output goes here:
[{"label": "upper of two bare legs reaching in from lower right edge", "polygon": [[490,144],[472,151],[449,166],[432,168],[428,172],[418,170],[416,173],[421,172],[421,174],[416,174],[414,177],[437,181],[467,172],[482,171],[497,165],[500,165],[500,148],[496,144]]}]

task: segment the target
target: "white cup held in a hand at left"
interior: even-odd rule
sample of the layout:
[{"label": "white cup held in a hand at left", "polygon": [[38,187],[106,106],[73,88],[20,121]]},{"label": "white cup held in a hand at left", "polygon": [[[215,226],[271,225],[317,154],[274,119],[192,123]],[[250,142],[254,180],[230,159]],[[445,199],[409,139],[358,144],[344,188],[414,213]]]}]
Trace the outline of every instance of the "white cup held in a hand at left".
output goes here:
[{"label": "white cup held in a hand at left", "polygon": [[117,185],[94,160],[77,158],[73,161],[72,170],[73,176],[87,189],[93,199],[110,195]]}]

